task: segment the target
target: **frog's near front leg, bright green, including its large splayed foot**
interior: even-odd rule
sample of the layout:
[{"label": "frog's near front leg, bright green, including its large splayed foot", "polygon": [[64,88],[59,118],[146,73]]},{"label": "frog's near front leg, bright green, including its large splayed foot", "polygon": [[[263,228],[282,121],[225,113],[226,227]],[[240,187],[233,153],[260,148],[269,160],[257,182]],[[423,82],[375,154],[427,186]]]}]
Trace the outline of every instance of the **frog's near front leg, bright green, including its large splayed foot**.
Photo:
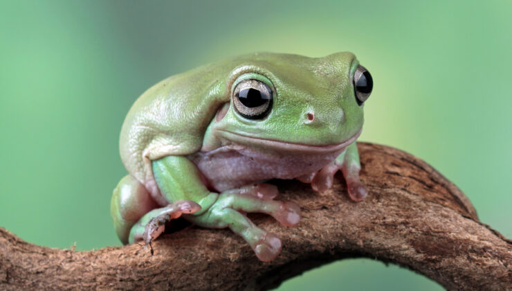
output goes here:
[{"label": "frog's near front leg, bright green, including its large splayed foot", "polygon": [[285,226],[300,220],[300,208],[293,202],[274,201],[277,188],[268,184],[212,193],[201,182],[201,173],[186,157],[164,157],[153,161],[153,173],[167,200],[192,200],[201,211],[183,215],[201,227],[225,228],[244,238],[261,261],[272,261],[281,250],[281,240],[251,222],[244,213],[266,213]]}]

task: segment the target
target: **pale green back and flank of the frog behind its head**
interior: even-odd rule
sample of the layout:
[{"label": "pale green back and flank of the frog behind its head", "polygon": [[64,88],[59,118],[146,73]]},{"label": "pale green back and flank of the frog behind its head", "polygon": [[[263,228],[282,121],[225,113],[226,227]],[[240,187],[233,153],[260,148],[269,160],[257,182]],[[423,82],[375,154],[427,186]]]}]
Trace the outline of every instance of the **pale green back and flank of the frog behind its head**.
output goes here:
[{"label": "pale green back and flank of the frog behind its head", "polygon": [[131,107],[122,125],[119,148],[123,164],[139,182],[146,184],[152,179],[152,160],[188,155],[201,148],[216,107],[229,100],[211,67],[162,80]]}]

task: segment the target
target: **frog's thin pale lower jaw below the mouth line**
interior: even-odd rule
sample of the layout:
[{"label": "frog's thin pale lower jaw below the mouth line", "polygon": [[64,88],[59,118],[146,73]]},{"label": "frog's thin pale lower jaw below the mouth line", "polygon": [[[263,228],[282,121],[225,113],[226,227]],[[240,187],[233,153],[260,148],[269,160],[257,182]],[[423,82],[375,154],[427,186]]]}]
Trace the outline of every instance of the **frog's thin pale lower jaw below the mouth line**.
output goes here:
[{"label": "frog's thin pale lower jaw below the mouth line", "polygon": [[245,134],[238,134],[235,132],[229,132],[227,130],[219,130],[219,133],[223,135],[224,138],[228,139],[229,141],[232,141],[234,143],[247,143],[250,141],[253,145],[262,146],[262,147],[268,147],[273,148],[275,150],[286,150],[286,151],[293,151],[293,152],[335,152],[337,150],[342,150],[343,148],[346,148],[349,144],[356,141],[356,139],[361,134],[361,131],[363,128],[360,128],[356,134],[351,136],[346,141],[343,141],[342,143],[336,143],[333,145],[308,145],[304,143],[287,143],[285,141],[275,141],[273,139],[262,139],[255,136],[248,136]]}]

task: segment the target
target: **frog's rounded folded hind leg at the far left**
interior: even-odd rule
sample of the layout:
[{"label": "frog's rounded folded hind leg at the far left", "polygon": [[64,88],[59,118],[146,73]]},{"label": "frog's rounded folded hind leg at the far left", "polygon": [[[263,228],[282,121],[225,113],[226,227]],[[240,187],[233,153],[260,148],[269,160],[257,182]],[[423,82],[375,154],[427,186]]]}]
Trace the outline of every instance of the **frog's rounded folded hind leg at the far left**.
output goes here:
[{"label": "frog's rounded folded hind leg at the far left", "polygon": [[147,212],[158,207],[143,184],[130,175],[121,179],[113,191],[110,213],[123,244],[128,243],[131,227]]}]

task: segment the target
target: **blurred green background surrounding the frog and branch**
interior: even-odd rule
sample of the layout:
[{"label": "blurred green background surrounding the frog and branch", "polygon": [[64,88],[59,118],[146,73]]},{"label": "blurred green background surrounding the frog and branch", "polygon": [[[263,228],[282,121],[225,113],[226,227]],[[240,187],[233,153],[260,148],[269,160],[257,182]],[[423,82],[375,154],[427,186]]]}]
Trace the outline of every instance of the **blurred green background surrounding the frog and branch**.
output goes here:
[{"label": "blurred green background surrounding the frog and branch", "polygon": [[[254,51],[356,53],[374,77],[362,141],[434,165],[512,237],[511,1],[0,1],[0,226],[30,243],[119,245],[118,134],[167,76]],[[286,247],[286,246],[285,246]],[[440,289],[370,260],[280,290]]]}]

